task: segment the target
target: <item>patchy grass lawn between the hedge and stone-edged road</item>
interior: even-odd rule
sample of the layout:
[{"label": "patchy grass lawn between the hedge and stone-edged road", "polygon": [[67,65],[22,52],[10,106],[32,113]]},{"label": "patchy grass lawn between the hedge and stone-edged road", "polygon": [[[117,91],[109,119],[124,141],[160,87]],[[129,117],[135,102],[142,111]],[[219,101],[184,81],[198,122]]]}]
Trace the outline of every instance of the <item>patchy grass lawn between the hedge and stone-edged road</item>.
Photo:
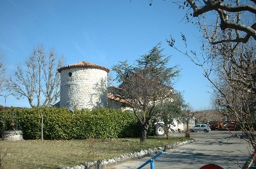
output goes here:
[{"label": "patchy grass lawn between the hedge and stone-edged road", "polygon": [[148,137],[141,144],[139,138],[116,138],[112,141],[87,140],[23,140],[10,142],[0,140],[4,168],[60,168],[84,162],[109,159],[141,149],[153,149],[176,142],[185,137]]}]

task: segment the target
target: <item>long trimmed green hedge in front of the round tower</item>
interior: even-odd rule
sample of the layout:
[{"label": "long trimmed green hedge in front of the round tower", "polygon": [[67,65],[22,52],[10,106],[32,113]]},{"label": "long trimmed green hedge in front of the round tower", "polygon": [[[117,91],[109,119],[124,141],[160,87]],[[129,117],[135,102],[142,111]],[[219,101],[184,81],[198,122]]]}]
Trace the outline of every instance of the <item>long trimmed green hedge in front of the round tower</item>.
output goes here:
[{"label": "long trimmed green hedge in front of the round tower", "polygon": [[[15,120],[24,139],[41,136],[41,112],[44,117],[44,139],[86,139],[135,137],[140,134],[139,122],[131,112],[117,109],[69,111],[67,108],[10,108],[0,111],[0,127],[10,130]],[[15,115],[13,116],[13,113]]]}]

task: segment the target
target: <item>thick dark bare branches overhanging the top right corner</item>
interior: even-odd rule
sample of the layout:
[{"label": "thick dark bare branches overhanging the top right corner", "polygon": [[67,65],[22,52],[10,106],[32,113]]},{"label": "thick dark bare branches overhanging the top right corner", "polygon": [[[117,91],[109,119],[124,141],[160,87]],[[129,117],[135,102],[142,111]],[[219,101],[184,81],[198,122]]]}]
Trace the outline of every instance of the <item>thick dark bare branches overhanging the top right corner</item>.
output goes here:
[{"label": "thick dark bare branches overhanging the top right corner", "polygon": [[[255,0],[186,0],[174,3],[186,11],[187,22],[208,29],[209,34],[205,38],[209,39],[211,44],[246,43],[250,37],[256,39]],[[236,32],[236,35],[231,39],[216,39],[223,31],[229,30]]]}]

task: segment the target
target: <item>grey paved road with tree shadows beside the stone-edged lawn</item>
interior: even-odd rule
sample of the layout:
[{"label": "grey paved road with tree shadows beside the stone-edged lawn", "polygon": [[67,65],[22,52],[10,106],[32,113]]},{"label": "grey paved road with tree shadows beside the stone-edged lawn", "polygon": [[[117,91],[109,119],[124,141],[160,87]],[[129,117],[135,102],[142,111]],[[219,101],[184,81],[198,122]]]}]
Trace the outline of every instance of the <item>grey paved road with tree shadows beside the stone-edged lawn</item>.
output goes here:
[{"label": "grey paved road with tree shadows beside the stone-edged lawn", "polygon": [[[172,133],[174,136],[183,134]],[[242,132],[239,131],[238,134],[241,135]],[[215,163],[223,168],[241,168],[249,157],[249,151],[252,151],[245,140],[232,136],[227,131],[195,132],[191,133],[191,137],[197,140],[196,143],[164,152],[155,160],[155,168],[200,168],[208,163]],[[127,161],[109,169],[137,168],[150,158]],[[150,164],[144,168],[150,168]]]}]

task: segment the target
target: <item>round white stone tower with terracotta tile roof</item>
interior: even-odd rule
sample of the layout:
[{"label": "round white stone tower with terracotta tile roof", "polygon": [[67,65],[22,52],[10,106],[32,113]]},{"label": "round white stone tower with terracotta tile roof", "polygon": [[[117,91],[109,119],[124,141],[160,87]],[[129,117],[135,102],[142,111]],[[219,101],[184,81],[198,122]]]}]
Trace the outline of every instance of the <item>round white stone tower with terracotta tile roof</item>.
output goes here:
[{"label": "round white stone tower with terracotta tile roof", "polygon": [[58,69],[61,76],[60,107],[92,109],[108,106],[106,77],[110,70],[89,62],[79,62]]}]

